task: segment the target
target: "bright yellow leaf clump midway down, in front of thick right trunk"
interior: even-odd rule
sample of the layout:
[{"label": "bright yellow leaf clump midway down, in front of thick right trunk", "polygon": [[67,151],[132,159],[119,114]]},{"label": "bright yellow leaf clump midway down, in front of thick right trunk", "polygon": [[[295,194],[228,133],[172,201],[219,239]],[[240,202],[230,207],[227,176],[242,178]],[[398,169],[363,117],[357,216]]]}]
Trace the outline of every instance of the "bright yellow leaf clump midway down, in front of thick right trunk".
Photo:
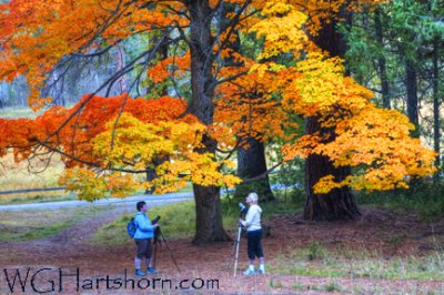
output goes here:
[{"label": "bright yellow leaf clump midway down, in front of thick right trunk", "polygon": [[344,77],[340,58],[326,59],[321,53],[309,53],[306,60],[289,69],[281,85],[284,108],[303,116],[320,115],[324,126],[341,121],[342,110],[349,116],[359,113],[373,96],[370,90]]}]

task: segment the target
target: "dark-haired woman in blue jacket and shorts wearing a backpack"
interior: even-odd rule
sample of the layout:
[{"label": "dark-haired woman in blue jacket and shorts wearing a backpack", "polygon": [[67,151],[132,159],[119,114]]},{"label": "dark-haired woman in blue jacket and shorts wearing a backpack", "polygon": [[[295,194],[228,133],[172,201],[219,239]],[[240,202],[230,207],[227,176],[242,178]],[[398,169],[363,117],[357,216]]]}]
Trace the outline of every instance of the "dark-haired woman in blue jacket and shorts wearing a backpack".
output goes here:
[{"label": "dark-haired woman in blue jacket and shorts wearing a backpack", "polygon": [[[154,267],[150,267],[151,262],[151,238],[154,236],[154,230],[159,226],[159,224],[152,224],[151,221],[147,216],[148,206],[143,201],[138,202],[135,205],[138,208],[138,213],[134,216],[134,223],[137,226],[137,231],[134,234],[134,242],[138,246],[138,251],[135,253],[134,265],[135,265],[135,275],[144,275],[158,273]],[[143,272],[140,267],[142,264],[142,260],[145,257],[147,272]]]}]

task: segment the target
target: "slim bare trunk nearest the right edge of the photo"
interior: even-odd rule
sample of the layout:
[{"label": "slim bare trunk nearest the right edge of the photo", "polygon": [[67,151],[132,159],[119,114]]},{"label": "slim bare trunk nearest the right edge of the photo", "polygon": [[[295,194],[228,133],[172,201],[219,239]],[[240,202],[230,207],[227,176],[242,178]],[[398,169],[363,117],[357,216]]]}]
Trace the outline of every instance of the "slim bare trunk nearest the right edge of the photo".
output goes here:
[{"label": "slim bare trunk nearest the right edge of the photo", "polygon": [[[438,42],[433,42],[433,141],[434,150],[436,152],[435,166],[440,170],[440,67],[438,67]],[[440,183],[440,171],[433,177],[433,183]]]}]

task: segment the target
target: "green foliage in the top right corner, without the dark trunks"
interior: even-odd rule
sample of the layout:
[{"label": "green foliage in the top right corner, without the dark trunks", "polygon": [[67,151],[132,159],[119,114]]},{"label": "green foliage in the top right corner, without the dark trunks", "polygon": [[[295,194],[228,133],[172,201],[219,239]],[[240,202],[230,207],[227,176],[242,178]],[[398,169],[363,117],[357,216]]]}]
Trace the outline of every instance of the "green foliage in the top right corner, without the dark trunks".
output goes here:
[{"label": "green foliage in the top right corner, without the dark trunks", "polygon": [[[380,65],[385,62],[389,84],[387,98],[394,109],[406,113],[405,103],[405,63],[417,72],[417,96],[421,105],[418,132],[426,139],[433,139],[432,84],[434,43],[440,44],[437,54],[444,57],[444,1],[393,0],[381,3],[376,10],[364,10],[353,14],[353,24],[341,24],[340,31],[345,35],[347,68],[361,84],[376,91],[375,102],[382,105],[382,77]],[[377,33],[377,20],[381,34]],[[379,37],[382,37],[380,40]],[[442,77],[442,69],[440,77]],[[441,79],[442,80],[442,79]],[[442,93],[442,82],[440,88]],[[440,95],[442,96],[442,95]],[[441,129],[442,130],[442,129]],[[442,132],[442,131],[441,131]]]}]

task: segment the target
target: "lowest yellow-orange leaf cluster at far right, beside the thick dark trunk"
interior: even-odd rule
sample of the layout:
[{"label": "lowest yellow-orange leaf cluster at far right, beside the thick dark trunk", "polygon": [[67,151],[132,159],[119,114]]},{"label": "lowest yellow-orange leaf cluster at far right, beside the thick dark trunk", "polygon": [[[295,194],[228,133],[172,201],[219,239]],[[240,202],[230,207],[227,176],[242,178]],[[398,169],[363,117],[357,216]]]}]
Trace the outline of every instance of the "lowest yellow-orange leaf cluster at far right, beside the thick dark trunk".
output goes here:
[{"label": "lowest yellow-orange leaf cluster at far right, beside the thick dark trunk", "polygon": [[355,190],[383,191],[406,187],[413,177],[434,173],[435,153],[410,138],[414,126],[395,110],[369,106],[360,114],[340,122],[336,138],[319,143],[312,152],[329,156],[336,166],[360,167],[342,182],[324,177],[316,193],[349,185]]}]

